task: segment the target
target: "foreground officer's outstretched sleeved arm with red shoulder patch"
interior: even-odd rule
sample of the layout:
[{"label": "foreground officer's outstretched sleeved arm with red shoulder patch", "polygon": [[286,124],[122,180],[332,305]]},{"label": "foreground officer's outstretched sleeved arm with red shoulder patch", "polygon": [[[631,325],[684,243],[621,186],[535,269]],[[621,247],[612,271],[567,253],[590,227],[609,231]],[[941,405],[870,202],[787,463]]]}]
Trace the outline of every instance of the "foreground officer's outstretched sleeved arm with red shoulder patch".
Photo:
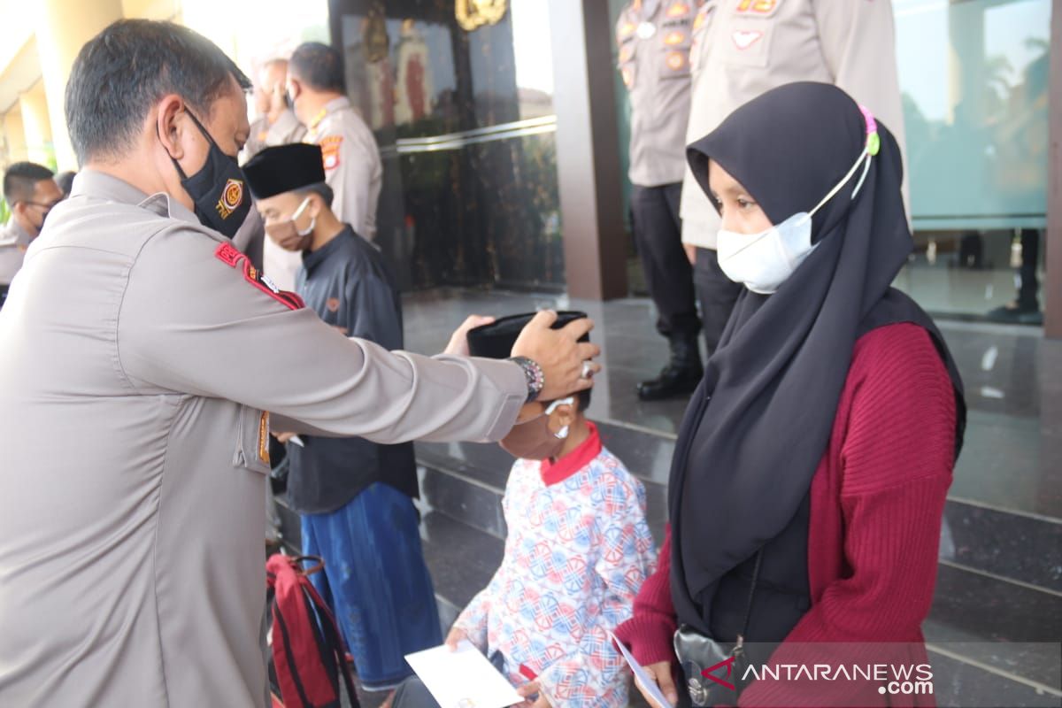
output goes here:
[{"label": "foreground officer's outstretched sleeved arm with red shoulder patch", "polygon": [[227,241],[168,229],[130,272],[116,365],[142,393],[227,398],[378,443],[496,441],[516,420],[518,366],[390,352],[286,299]]}]

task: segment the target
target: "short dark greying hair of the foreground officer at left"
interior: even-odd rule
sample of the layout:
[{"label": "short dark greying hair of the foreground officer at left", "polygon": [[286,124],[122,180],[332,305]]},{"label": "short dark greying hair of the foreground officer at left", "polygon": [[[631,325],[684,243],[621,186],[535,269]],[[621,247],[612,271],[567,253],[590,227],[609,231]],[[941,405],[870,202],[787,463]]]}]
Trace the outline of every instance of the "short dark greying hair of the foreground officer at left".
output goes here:
[{"label": "short dark greying hair of the foreground officer at left", "polygon": [[82,47],[66,89],[70,140],[82,165],[132,149],[151,106],[177,93],[203,117],[251,81],[206,37],[172,22],[118,20]]}]

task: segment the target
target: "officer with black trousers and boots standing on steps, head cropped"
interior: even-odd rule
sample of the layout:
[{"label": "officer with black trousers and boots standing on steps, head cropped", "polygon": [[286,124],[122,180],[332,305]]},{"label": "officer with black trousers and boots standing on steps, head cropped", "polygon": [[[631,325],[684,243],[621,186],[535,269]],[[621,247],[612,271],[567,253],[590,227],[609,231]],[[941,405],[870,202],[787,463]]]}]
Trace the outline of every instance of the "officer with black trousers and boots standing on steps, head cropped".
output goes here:
[{"label": "officer with black trousers and boots standing on steps, head cropped", "polygon": [[634,0],[616,23],[619,71],[631,104],[631,214],[657,331],[671,357],[638,397],[687,394],[703,373],[693,277],[682,249],[679,198],[686,166],[693,0]]}]

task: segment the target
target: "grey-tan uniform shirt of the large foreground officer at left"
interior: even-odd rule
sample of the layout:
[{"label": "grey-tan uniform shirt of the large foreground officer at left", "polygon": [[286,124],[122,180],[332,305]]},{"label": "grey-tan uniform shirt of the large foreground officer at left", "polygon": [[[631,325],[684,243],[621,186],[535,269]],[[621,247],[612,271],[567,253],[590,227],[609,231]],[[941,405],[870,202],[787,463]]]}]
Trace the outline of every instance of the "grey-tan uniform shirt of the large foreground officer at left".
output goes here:
[{"label": "grey-tan uniform shirt of the large foreground officer at left", "polygon": [[378,443],[514,422],[516,364],[290,303],[165,194],[83,171],[52,210],[0,310],[0,706],[267,705],[266,411]]}]

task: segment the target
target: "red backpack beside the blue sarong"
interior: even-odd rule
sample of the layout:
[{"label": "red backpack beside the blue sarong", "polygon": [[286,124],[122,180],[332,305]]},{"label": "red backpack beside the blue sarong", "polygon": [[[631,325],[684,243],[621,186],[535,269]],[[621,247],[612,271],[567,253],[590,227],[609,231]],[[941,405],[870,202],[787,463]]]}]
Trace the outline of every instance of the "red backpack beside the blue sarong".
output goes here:
[{"label": "red backpack beside the blue sarong", "polygon": [[[316,565],[304,570],[303,560]],[[266,562],[272,597],[271,673],[275,673],[284,708],[340,708],[340,676],[350,706],[360,708],[336,618],[310,583],[309,575],[323,568],[324,560],[318,556],[276,553]],[[276,706],[275,696],[273,702]]]}]

